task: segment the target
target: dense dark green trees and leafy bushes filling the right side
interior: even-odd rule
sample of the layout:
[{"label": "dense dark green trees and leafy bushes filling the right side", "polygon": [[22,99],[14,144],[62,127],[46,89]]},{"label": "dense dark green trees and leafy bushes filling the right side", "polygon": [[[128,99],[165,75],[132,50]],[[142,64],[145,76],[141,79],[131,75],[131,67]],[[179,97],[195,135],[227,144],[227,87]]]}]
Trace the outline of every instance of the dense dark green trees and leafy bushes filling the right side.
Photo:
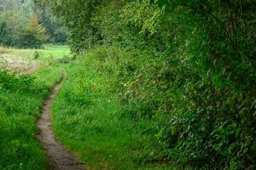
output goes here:
[{"label": "dense dark green trees and leafy bushes filling the right side", "polygon": [[141,163],[256,168],[255,2],[49,3],[74,52],[102,45],[133,54],[125,63],[113,54],[112,67],[119,69],[115,86],[127,114],[135,123],[152,120],[142,134],[152,139]]}]

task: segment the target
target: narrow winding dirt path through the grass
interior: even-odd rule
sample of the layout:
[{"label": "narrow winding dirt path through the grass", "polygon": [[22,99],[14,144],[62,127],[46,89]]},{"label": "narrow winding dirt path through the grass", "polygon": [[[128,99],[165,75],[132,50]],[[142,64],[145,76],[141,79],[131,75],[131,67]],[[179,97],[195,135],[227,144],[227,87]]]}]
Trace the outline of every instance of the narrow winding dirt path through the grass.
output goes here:
[{"label": "narrow winding dirt path through the grass", "polygon": [[[63,78],[62,78],[63,79]],[[52,100],[61,88],[61,82],[55,85],[48,99],[44,103],[42,117],[38,121],[40,133],[38,139],[44,145],[47,156],[49,158],[49,170],[84,170],[85,166],[80,163],[75,156],[65,150],[59,144],[52,131],[50,122],[50,108]]]}]

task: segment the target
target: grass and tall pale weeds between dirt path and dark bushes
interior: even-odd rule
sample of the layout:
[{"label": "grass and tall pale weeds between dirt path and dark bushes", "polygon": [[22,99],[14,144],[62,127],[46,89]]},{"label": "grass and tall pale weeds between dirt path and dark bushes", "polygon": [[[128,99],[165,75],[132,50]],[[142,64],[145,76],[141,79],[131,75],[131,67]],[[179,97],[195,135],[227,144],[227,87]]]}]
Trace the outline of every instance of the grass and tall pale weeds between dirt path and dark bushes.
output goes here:
[{"label": "grass and tall pale weeds between dirt path and dark bushes", "polygon": [[141,163],[143,144],[148,141],[141,134],[153,123],[147,119],[137,122],[125,114],[115,90],[118,68],[114,59],[108,59],[114,55],[106,53],[112,51],[92,50],[67,66],[67,79],[53,103],[58,139],[92,170],[170,169]]}]

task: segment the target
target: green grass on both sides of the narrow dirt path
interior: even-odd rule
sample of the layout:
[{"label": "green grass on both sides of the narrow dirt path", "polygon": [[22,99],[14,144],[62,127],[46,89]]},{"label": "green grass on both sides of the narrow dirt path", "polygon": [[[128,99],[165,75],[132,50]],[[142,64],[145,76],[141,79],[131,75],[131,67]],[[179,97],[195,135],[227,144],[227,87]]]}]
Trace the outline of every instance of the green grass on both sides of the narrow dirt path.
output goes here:
[{"label": "green grass on both sides of the narrow dirt path", "polygon": [[[134,122],[126,116],[115,91],[118,72],[115,61],[108,59],[108,55],[120,51],[92,50],[81,59],[63,65],[58,58],[69,54],[68,50],[61,52],[64,48],[67,47],[46,46],[36,62],[45,59],[48,65],[40,67],[31,77],[15,78],[4,73],[7,81],[0,79],[0,169],[46,169],[44,150],[35,139],[36,121],[49,89],[60,80],[64,69],[67,78],[52,108],[54,131],[62,144],[91,170],[173,169],[169,165],[142,163],[143,144],[148,139],[141,134],[152,125],[146,119]],[[18,49],[8,50],[9,54],[22,54]],[[28,58],[32,57],[31,51],[20,50]],[[53,62],[49,62],[49,55],[55,56]],[[121,55],[123,59],[128,57]]]}]

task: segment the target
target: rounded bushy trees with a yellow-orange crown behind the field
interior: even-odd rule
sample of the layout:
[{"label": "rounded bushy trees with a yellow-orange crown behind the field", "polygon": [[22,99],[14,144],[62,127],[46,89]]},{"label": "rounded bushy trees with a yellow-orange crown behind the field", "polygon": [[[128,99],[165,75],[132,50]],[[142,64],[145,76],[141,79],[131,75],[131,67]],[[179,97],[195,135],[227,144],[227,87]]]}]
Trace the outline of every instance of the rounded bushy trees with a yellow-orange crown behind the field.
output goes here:
[{"label": "rounded bushy trees with a yellow-orange crown behind the field", "polygon": [[9,11],[0,14],[0,44],[18,48],[42,48],[46,31],[33,15],[30,20],[22,12]]}]

